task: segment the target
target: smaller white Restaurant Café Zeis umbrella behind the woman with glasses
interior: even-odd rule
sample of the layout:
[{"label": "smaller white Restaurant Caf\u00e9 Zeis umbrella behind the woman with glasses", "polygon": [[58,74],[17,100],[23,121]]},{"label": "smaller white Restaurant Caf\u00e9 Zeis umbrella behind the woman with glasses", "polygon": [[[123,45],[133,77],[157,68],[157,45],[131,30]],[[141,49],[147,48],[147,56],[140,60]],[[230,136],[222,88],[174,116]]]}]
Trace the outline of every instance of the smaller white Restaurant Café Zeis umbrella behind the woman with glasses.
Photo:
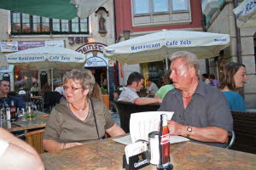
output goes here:
[{"label": "smaller white Restaurant Caf\u00e9 Zeis umbrella behind the woman with glasses", "polygon": [[71,70],[83,68],[85,55],[68,48],[40,47],[29,48],[13,54],[6,54],[10,65],[19,65],[27,70],[51,70],[53,90],[53,70]]}]

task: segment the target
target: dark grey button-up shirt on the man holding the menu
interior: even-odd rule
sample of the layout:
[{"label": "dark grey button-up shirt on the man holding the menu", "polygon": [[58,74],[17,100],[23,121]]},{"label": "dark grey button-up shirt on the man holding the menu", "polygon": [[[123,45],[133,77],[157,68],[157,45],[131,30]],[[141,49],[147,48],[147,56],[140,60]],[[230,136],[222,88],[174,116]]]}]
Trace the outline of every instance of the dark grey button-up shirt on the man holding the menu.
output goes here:
[{"label": "dark grey button-up shirt on the man holding the menu", "polygon": [[[199,82],[186,109],[179,89],[170,90],[158,111],[174,111],[172,121],[191,127],[221,127],[232,132],[233,118],[224,94],[218,88]],[[227,144],[204,143],[225,147]]]}]

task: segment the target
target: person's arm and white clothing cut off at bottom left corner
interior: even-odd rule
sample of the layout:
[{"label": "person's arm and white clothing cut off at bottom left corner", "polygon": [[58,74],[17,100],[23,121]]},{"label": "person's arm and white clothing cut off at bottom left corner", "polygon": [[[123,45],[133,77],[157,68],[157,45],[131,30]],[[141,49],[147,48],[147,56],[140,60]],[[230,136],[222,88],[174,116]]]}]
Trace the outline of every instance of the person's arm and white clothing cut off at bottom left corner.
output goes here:
[{"label": "person's arm and white clothing cut off at bottom left corner", "polygon": [[0,169],[44,169],[40,156],[29,144],[0,127]]}]

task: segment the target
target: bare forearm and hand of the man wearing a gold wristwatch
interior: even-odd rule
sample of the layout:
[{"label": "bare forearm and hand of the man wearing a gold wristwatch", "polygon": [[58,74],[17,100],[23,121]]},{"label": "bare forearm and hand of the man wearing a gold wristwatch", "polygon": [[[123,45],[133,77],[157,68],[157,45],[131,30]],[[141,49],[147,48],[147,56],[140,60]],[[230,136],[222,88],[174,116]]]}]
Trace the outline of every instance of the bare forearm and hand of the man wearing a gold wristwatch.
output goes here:
[{"label": "bare forearm and hand of the man wearing a gold wristwatch", "polygon": [[[168,128],[171,134],[187,137],[187,127],[174,121],[168,121]],[[192,127],[190,139],[201,142],[225,143],[229,137],[228,131],[221,127]]]}]

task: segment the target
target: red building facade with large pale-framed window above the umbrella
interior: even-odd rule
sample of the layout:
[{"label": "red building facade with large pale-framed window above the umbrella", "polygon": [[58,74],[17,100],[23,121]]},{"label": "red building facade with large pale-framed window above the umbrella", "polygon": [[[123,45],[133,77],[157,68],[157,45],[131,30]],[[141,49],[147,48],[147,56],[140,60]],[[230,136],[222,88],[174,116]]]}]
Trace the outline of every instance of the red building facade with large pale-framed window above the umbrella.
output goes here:
[{"label": "red building facade with large pale-framed window above the umbrella", "polygon": [[[115,18],[116,42],[163,29],[203,31],[200,0],[115,1]],[[202,73],[206,71],[205,59],[201,59],[201,70]],[[150,77],[161,86],[161,75],[166,72],[166,61],[151,63],[145,61],[137,65],[119,63],[119,84],[125,86],[127,78],[133,71],[143,73],[145,78]]]}]

